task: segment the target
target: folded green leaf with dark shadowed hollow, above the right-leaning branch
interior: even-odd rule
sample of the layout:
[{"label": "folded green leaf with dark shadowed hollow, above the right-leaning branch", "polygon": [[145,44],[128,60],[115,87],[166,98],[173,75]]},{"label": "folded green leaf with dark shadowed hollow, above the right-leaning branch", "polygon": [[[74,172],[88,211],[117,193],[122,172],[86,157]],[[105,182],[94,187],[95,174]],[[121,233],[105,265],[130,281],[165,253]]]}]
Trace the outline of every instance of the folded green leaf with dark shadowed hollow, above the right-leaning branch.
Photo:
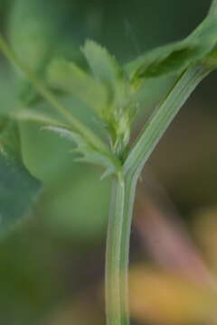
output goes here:
[{"label": "folded green leaf with dark shadowed hollow, above the right-leaning branch", "polygon": [[190,64],[202,60],[217,42],[217,20],[207,17],[184,41],[148,51],[125,66],[132,82],[179,74]]}]

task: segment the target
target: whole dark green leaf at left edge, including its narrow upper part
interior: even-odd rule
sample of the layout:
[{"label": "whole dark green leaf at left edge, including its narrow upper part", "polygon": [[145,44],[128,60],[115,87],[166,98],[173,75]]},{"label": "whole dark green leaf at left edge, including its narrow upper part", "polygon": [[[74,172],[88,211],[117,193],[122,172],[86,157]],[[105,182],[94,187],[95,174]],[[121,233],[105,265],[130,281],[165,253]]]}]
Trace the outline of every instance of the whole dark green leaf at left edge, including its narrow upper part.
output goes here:
[{"label": "whole dark green leaf at left edge, including its narrow upper part", "polygon": [[0,134],[0,237],[27,216],[36,200],[41,182],[21,160],[17,125],[1,117]]}]

